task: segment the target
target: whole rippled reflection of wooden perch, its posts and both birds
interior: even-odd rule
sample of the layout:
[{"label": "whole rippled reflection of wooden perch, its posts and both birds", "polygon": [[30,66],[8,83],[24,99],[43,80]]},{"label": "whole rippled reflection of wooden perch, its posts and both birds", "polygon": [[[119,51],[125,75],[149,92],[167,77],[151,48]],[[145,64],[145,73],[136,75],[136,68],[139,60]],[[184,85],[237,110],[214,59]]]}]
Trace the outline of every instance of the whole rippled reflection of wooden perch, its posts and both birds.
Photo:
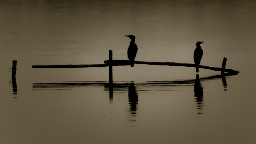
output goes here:
[{"label": "whole rippled reflection of wooden perch, its posts and both birds", "polygon": [[[198,115],[203,114],[203,86],[202,81],[212,79],[222,79],[224,90],[227,90],[226,76],[232,76],[234,74],[225,73],[222,75],[213,75],[209,77],[199,78],[196,75],[196,79],[188,80],[166,80],[166,81],[148,81],[142,83],[134,82],[114,82],[109,86],[108,82],[55,82],[55,83],[34,83],[33,90],[67,90],[73,87],[104,87],[104,91],[109,92],[109,103],[114,103],[114,96],[126,95],[128,91],[128,104],[129,104],[129,116],[131,122],[136,122],[137,110],[138,110],[138,91],[140,93],[153,93],[154,91],[182,91],[186,87],[194,87],[194,97],[196,102],[196,108],[198,109]],[[133,123],[134,125],[134,123]],[[136,127],[136,126],[135,126]]]}]

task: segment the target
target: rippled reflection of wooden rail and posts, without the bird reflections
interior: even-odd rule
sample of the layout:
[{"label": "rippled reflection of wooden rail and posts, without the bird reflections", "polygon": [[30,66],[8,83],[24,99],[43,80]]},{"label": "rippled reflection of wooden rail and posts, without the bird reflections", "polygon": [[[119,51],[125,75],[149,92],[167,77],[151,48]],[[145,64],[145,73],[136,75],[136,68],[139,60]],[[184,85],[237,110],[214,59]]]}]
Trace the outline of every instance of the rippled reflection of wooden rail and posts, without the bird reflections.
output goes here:
[{"label": "rippled reflection of wooden rail and posts, without the bird reflections", "polygon": [[[225,73],[223,75],[213,75],[209,77],[198,78],[200,82],[212,79],[222,79],[224,90],[227,90],[227,76],[234,74]],[[235,74],[236,75],[236,74]],[[182,91],[182,88],[194,86],[195,79],[188,80],[165,80],[165,81],[147,81],[136,83],[136,90],[143,93],[151,93],[153,91]],[[123,93],[131,86],[131,82],[119,81],[114,82],[110,87],[108,81],[74,81],[74,82],[49,82],[49,83],[33,83],[33,90],[68,90],[74,87],[104,87],[105,91],[109,91],[110,99],[113,100],[113,91]]]}]

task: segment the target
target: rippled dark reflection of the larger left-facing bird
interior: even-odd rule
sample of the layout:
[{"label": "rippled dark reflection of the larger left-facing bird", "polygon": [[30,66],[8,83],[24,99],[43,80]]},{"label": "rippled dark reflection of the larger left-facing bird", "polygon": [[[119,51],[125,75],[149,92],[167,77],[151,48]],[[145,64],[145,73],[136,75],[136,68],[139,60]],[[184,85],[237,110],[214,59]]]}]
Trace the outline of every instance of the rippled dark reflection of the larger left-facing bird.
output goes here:
[{"label": "rippled dark reflection of the larger left-facing bird", "polygon": [[131,83],[131,85],[128,87],[128,103],[130,105],[129,112],[132,118],[130,121],[136,122],[136,114],[138,109],[138,93],[136,91],[134,83]]}]

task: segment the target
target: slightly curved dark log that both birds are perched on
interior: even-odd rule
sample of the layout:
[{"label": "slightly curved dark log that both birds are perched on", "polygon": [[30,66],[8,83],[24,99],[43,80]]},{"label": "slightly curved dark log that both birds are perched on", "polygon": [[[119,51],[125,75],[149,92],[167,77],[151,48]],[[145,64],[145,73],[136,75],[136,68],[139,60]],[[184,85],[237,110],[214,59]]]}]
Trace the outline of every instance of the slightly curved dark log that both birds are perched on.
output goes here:
[{"label": "slightly curved dark log that both birds are perched on", "polygon": [[[105,64],[108,64],[108,60],[104,61]],[[159,65],[159,66],[180,66],[180,67],[196,67],[195,64],[190,63],[174,63],[174,62],[145,62],[145,61],[134,61],[135,64],[147,64],[147,65]],[[131,65],[129,60],[112,60],[112,66],[127,66]],[[232,69],[222,69],[217,67],[209,67],[199,65],[199,68],[210,69],[213,71],[224,71],[227,73],[239,73]]]}]

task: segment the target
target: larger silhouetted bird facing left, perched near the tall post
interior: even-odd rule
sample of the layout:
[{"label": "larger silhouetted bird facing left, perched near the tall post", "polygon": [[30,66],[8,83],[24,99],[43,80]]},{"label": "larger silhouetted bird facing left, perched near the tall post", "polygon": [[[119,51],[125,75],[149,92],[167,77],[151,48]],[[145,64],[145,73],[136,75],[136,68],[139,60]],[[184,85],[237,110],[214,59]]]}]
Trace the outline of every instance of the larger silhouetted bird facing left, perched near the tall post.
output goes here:
[{"label": "larger silhouetted bird facing left, perched near the tall post", "polygon": [[[127,35],[125,35],[125,36],[127,36]],[[138,51],[138,47],[135,44],[135,36],[128,35],[127,37],[129,37],[131,39],[127,54],[128,54],[128,59],[131,62],[131,67],[133,67],[133,63],[134,63],[134,59],[135,59],[137,51]]]}]

